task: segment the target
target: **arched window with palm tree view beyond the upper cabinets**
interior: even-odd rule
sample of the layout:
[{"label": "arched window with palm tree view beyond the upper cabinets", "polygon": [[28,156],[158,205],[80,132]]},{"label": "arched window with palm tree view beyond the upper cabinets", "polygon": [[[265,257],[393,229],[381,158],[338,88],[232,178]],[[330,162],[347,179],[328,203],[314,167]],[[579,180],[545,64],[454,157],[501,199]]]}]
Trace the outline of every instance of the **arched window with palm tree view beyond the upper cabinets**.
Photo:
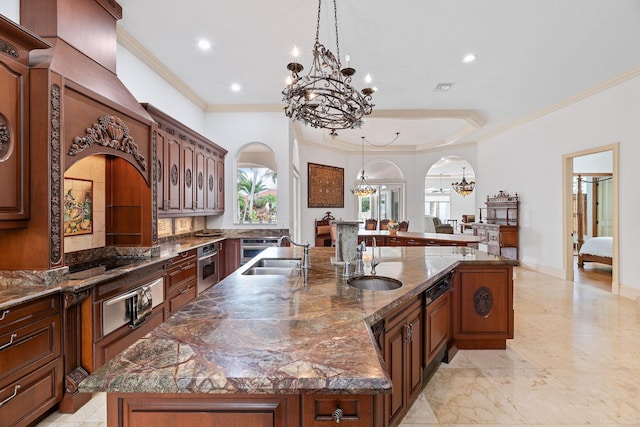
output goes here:
[{"label": "arched window with palm tree view beyond the upper cabinets", "polygon": [[235,222],[275,224],[278,220],[278,168],[271,148],[259,142],[243,147],[236,159]]}]

